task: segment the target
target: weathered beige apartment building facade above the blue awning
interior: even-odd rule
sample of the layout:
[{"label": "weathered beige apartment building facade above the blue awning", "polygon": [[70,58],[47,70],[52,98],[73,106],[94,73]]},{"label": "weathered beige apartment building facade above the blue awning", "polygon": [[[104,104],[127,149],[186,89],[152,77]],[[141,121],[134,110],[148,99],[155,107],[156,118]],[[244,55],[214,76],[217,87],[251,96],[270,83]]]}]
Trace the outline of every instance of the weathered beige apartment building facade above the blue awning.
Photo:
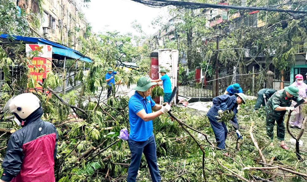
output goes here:
[{"label": "weathered beige apartment building facade above the blue awning", "polygon": [[17,0],[16,3],[27,13],[37,13],[39,4],[42,4],[41,26],[34,30],[38,37],[77,51],[81,49],[80,39],[86,38],[89,22],[76,0]]}]

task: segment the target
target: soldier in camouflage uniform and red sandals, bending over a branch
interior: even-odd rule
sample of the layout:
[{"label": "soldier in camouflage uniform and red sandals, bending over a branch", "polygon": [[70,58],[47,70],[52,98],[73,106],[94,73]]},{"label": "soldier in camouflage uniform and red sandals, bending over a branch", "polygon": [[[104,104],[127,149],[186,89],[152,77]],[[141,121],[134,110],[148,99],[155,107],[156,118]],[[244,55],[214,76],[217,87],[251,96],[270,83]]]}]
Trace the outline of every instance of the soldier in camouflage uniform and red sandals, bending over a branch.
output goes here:
[{"label": "soldier in camouflage uniform and red sandals, bending over a branch", "polygon": [[[294,107],[290,107],[292,100],[299,102],[301,98],[298,98],[298,88],[290,85],[280,91],[275,92],[268,100],[266,110],[266,134],[271,138],[271,146],[273,145],[273,129],[275,121],[277,123],[277,138],[281,140],[280,147],[283,149],[289,149],[285,143],[285,125],[284,119],[286,111],[294,110]],[[307,101],[304,102],[304,104]]]}]

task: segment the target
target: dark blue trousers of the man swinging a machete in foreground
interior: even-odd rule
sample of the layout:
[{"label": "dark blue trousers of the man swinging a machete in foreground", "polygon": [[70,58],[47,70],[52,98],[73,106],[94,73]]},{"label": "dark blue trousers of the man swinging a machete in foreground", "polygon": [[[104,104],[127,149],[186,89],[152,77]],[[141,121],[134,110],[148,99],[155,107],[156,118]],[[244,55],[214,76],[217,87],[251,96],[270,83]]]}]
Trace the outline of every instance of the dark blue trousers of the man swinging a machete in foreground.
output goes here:
[{"label": "dark blue trousers of the man swinging a machete in foreground", "polygon": [[147,165],[149,167],[150,176],[153,182],[161,181],[159,169],[157,165],[156,141],[152,135],[146,141],[128,140],[129,149],[131,151],[131,163],[128,168],[127,182],[135,182],[138,175],[138,169],[144,153]]}]

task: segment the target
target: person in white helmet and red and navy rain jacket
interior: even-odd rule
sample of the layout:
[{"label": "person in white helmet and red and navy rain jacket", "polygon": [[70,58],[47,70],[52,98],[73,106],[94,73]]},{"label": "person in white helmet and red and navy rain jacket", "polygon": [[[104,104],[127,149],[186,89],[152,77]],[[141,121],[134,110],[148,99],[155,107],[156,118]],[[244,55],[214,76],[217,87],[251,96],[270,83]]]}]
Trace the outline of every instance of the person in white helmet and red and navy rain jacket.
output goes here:
[{"label": "person in white helmet and red and navy rain jacket", "polygon": [[41,120],[41,102],[31,93],[11,98],[3,112],[13,113],[21,124],[7,144],[0,182],[55,182],[54,161],[58,134],[50,122]]}]

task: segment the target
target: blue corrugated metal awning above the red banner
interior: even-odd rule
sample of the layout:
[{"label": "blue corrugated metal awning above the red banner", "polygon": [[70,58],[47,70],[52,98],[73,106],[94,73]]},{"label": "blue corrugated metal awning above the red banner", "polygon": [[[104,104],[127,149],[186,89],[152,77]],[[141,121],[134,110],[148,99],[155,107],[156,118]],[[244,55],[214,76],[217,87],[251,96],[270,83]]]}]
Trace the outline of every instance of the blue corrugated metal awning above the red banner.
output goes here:
[{"label": "blue corrugated metal awning above the red banner", "polygon": [[[1,34],[1,38],[8,38],[9,35],[6,34]],[[66,59],[79,59],[88,63],[92,62],[92,59],[90,57],[84,56],[83,54],[81,54],[80,52],[66,47],[64,45],[60,45],[57,44],[55,42],[52,41],[48,41],[46,39],[43,38],[37,38],[37,37],[23,37],[23,36],[15,36],[15,40],[17,41],[25,41],[25,42],[33,42],[35,44],[39,44],[39,45],[52,45],[52,54],[58,54],[61,56],[65,56],[67,57]]]}]

